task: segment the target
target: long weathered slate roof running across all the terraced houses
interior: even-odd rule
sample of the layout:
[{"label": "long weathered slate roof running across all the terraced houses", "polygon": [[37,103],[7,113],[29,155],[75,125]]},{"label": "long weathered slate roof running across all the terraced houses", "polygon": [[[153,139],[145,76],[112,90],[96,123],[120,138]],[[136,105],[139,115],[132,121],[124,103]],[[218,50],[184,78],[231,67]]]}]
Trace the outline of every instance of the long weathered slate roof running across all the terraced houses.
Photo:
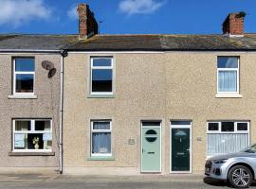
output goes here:
[{"label": "long weathered slate roof running across all the terraced houses", "polygon": [[79,40],[78,35],[0,34],[0,51],[255,51],[256,34],[230,38],[225,35],[96,35]]}]

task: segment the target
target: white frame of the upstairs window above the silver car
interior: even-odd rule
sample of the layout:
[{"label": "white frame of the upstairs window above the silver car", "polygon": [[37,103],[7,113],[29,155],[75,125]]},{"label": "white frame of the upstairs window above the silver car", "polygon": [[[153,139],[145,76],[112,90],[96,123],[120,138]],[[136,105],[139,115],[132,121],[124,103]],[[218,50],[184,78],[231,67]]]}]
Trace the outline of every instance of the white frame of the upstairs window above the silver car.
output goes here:
[{"label": "white frame of the upstairs window above the silver car", "polygon": [[[217,58],[227,57],[227,58],[237,58],[237,68],[218,68],[218,61],[217,61],[217,94],[239,94],[239,82],[240,82],[240,57],[239,56],[218,56]],[[219,91],[219,72],[220,71],[236,71],[236,92],[220,92]]]}]

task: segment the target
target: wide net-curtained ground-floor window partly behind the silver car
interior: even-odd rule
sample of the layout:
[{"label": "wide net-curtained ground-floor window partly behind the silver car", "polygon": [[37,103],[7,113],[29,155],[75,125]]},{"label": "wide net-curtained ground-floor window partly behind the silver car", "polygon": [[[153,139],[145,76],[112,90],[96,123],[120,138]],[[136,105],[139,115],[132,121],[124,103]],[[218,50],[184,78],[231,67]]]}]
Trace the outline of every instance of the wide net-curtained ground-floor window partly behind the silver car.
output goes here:
[{"label": "wide net-curtained ground-floor window partly behind the silver car", "polygon": [[247,121],[212,121],[207,127],[208,156],[237,152],[249,145]]}]

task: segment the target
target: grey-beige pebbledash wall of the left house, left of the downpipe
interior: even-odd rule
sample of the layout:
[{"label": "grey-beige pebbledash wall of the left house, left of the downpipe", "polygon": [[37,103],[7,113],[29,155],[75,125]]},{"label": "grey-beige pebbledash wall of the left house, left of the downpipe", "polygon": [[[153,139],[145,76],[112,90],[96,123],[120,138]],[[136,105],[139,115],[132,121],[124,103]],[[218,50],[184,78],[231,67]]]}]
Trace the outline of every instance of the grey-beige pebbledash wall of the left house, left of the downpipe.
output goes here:
[{"label": "grey-beige pebbledash wall of the left house, left of the downpipe", "polygon": [[[35,58],[34,94],[37,99],[10,99],[12,94],[12,58]],[[57,73],[48,78],[42,61],[54,63]],[[0,172],[53,172],[59,162],[59,107],[60,107],[60,61],[58,54],[0,54]],[[11,153],[13,118],[52,119],[52,152],[44,156],[38,153]]]}]

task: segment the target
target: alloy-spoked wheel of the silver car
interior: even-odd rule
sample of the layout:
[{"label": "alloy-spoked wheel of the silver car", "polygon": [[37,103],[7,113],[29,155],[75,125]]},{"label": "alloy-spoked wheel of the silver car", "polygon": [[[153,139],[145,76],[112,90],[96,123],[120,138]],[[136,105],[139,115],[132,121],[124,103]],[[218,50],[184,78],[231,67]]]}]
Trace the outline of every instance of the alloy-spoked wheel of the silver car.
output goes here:
[{"label": "alloy-spoked wheel of the silver car", "polygon": [[236,165],[230,168],[228,180],[234,188],[247,188],[252,180],[252,174],[246,166]]}]

